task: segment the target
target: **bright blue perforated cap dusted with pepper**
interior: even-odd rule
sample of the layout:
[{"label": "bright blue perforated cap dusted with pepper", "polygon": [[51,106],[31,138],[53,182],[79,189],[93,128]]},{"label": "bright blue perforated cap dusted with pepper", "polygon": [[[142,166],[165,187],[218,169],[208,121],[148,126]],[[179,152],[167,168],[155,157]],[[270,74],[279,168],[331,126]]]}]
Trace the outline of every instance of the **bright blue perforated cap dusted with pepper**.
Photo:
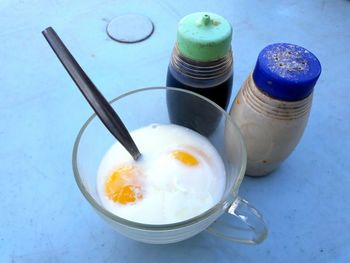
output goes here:
[{"label": "bright blue perforated cap dusted with pepper", "polygon": [[287,43],[265,47],[253,71],[255,85],[268,96],[285,101],[308,97],[321,74],[321,64],[307,49]]}]

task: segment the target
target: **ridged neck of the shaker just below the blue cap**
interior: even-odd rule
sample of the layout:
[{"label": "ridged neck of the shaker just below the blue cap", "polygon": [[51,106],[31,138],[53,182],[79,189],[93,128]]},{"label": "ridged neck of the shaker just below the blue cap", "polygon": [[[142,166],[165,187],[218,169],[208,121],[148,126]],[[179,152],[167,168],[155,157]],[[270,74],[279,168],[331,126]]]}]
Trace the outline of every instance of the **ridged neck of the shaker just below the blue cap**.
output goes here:
[{"label": "ridged neck of the shaker just below the blue cap", "polygon": [[282,101],[269,97],[254,83],[250,74],[241,89],[243,98],[256,112],[281,120],[298,119],[309,113],[312,94],[298,101]]}]

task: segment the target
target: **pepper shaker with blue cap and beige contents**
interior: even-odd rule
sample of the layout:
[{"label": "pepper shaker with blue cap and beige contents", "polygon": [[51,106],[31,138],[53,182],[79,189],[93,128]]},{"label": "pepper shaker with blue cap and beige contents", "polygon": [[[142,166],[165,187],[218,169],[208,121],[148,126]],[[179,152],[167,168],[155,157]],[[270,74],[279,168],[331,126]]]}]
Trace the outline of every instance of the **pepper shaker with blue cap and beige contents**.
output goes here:
[{"label": "pepper shaker with blue cap and beige contents", "polygon": [[294,150],[320,73],[319,60],[303,47],[276,43],[260,52],[230,110],[247,147],[247,175],[272,172]]}]

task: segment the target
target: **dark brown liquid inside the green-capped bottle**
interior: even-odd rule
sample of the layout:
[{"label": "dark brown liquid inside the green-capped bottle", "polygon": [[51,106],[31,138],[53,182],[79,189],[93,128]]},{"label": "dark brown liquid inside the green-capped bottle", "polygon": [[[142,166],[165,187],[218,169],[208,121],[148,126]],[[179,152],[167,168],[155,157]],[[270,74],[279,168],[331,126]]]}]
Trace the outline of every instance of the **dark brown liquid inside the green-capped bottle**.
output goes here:
[{"label": "dark brown liquid inside the green-capped bottle", "polygon": [[[166,84],[167,87],[182,88],[203,95],[226,109],[232,90],[232,75],[219,85],[196,88],[178,81],[168,70]],[[222,117],[221,112],[214,105],[177,91],[167,91],[167,105],[172,123],[188,127],[206,136],[213,133]]]}]

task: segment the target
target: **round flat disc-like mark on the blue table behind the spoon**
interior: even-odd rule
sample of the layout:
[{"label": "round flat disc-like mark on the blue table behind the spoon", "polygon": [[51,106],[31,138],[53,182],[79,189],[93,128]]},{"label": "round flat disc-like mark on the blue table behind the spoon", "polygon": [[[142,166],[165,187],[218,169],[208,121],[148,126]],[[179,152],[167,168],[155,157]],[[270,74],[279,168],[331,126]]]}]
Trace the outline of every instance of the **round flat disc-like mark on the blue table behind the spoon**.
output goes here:
[{"label": "round flat disc-like mark on the blue table behind the spoon", "polygon": [[144,15],[121,15],[107,25],[107,34],[122,43],[136,43],[149,38],[154,30],[151,19]]}]

